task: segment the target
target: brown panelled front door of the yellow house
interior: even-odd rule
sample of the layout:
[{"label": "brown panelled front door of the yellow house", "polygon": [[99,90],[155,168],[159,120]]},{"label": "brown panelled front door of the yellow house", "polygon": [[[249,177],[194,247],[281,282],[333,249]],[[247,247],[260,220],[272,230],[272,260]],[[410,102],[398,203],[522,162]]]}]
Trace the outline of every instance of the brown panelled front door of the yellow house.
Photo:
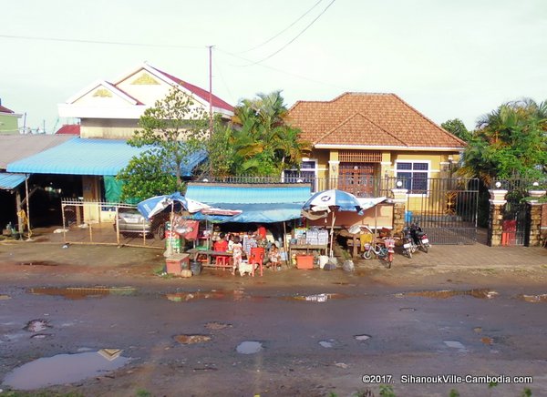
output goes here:
[{"label": "brown panelled front door of the yellow house", "polygon": [[338,189],[356,197],[374,197],[374,163],[340,163]]}]

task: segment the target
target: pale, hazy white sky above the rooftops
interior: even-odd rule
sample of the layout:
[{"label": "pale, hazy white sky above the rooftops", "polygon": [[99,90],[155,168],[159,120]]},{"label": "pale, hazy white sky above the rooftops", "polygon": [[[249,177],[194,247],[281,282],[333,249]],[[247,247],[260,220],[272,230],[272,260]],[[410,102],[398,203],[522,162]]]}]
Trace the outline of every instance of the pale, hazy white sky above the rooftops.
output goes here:
[{"label": "pale, hazy white sky above the rooftops", "polygon": [[209,89],[208,46],[212,91],[234,106],[394,93],[473,129],[547,99],[544,0],[0,0],[0,21],[2,105],[47,133],[72,121],[57,104],[143,62]]}]

